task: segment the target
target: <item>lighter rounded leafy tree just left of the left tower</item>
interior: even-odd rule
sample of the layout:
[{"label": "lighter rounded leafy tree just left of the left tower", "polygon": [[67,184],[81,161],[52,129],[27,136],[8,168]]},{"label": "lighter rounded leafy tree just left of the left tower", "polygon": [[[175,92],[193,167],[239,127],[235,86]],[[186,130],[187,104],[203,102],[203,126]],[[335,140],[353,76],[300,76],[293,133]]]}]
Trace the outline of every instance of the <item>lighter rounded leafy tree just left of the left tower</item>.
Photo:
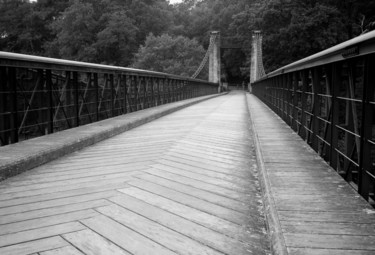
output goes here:
[{"label": "lighter rounded leafy tree just left of the left tower", "polygon": [[168,34],[146,38],[135,54],[133,67],[191,76],[198,68],[205,50],[197,40],[183,36],[173,37]]}]

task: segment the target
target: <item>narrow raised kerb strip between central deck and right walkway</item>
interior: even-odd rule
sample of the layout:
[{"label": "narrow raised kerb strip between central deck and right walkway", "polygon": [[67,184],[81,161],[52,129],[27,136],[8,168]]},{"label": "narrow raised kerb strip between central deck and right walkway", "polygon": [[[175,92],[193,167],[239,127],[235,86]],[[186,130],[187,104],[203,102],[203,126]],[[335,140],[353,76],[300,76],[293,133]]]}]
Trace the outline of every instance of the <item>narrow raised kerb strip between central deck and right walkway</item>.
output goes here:
[{"label": "narrow raised kerb strip between central deck and right walkway", "polygon": [[267,170],[264,166],[264,160],[262,156],[262,150],[260,147],[260,142],[258,138],[258,134],[255,130],[255,124],[251,118],[251,107],[250,107],[250,95],[246,94],[246,103],[247,109],[250,115],[250,123],[251,123],[251,132],[254,138],[255,143],[255,150],[256,150],[256,157],[259,166],[259,175],[260,175],[260,183],[262,189],[262,198],[264,204],[264,212],[266,216],[266,224],[268,228],[268,234],[270,238],[270,248],[271,253],[275,255],[288,255],[288,251],[286,248],[284,235],[281,229],[281,224],[279,221],[278,213],[276,210],[276,205],[273,200],[272,191],[271,191],[271,184],[268,178]]}]

